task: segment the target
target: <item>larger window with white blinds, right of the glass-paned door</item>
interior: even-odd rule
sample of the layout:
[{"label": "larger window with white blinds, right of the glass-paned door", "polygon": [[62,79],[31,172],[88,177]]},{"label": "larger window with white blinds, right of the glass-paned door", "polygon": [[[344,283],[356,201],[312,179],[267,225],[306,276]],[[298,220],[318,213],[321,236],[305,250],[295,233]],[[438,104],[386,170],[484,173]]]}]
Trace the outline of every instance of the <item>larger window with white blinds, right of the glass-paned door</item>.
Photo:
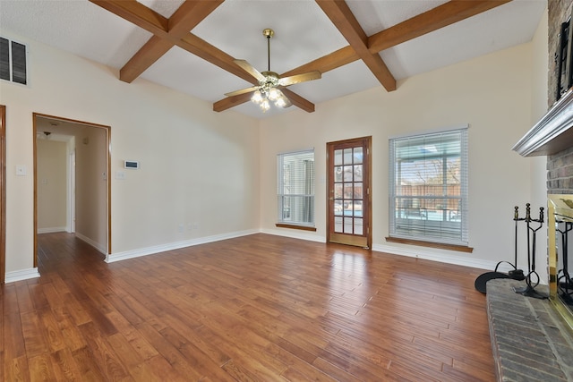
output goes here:
[{"label": "larger window with white blinds, right of the glass-paned door", "polygon": [[389,236],[467,245],[467,128],[389,140]]}]

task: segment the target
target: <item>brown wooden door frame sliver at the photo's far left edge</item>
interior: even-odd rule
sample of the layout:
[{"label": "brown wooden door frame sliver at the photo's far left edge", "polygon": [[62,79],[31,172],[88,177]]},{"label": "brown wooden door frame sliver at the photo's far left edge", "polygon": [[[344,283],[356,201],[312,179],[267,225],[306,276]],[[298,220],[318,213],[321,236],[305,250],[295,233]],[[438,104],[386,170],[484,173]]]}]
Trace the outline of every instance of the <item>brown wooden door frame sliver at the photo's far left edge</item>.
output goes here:
[{"label": "brown wooden door frame sliver at the photo's far left edge", "polygon": [[6,106],[0,105],[0,285],[6,278]]}]

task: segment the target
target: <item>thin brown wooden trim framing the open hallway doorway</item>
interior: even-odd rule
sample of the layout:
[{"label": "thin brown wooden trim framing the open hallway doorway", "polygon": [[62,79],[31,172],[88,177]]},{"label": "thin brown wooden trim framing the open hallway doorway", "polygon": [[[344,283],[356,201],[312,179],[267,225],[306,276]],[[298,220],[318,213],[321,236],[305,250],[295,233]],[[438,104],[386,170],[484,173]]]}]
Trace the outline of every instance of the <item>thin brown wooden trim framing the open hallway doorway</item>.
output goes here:
[{"label": "thin brown wooden trim framing the open hallway doorway", "polygon": [[[107,190],[106,190],[106,205],[107,205],[107,254],[111,254],[111,126],[98,123],[90,123],[78,121],[70,118],[64,118],[55,115],[45,115],[40,113],[32,114],[32,125],[33,125],[33,151],[34,151],[34,267],[38,267],[38,147],[36,144],[37,136],[37,118],[47,118],[55,121],[63,121],[67,123],[82,124],[87,127],[93,127],[97,129],[104,129],[106,132],[106,160],[107,160]],[[70,160],[70,158],[67,158]]]}]

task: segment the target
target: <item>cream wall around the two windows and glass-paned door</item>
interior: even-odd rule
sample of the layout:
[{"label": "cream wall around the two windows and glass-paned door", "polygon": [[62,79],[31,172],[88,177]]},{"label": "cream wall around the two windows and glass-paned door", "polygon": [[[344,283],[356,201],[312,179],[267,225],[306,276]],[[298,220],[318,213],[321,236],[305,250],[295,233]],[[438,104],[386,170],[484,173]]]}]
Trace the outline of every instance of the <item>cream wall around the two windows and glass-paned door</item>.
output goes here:
[{"label": "cream wall around the two windows and glass-paned door", "polygon": [[[513,260],[514,206],[530,201],[530,170],[511,148],[531,127],[532,44],[485,55],[398,81],[398,90],[370,89],[318,105],[316,112],[261,123],[261,225],[265,232],[326,237],[326,142],[372,135],[372,241],[385,250],[491,268]],[[321,81],[327,81],[327,76]],[[473,253],[385,241],[389,233],[389,137],[468,123],[469,245]],[[276,155],[314,147],[316,233],[275,228]]]}]

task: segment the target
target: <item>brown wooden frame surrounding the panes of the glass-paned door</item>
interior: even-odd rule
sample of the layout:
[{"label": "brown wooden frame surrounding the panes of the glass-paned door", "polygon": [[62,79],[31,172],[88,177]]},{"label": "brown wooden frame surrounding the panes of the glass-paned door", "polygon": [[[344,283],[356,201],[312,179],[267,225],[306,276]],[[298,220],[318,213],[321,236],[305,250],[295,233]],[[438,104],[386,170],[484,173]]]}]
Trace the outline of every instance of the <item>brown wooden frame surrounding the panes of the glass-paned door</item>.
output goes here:
[{"label": "brown wooden frame surrounding the panes of the glass-paned door", "polygon": [[[334,233],[333,230],[333,224],[334,224],[334,219],[333,216],[331,216],[332,214],[332,208],[333,208],[333,200],[330,198],[332,197],[332,194],[334,193],[334,190],[331,189],[331,181],[333,181],[331,179],[331,168],[333,167],[333,162],[334,158],[330,158],[329,157],[329,153],[330,153],[330,149],[335,147],[335,146],[339,146],[339,145],[352,145],[358,142],[363,142],[364,143],[364,147],[366,149],[365,154],[363,155],[363,184],[366,186],[364,187],[363,190],[363,200],[365,201],[365,204],[367,208],[364,209],[363,206],[363,222],[364,222],[364,227],[363,229],[366,230],[365,233],[365,238],[366,238],[366,247],[368,249],[372,250],[372,136],[367,136],[367,137],[360,137],[360,138],[353,138],[353,139],[349,139],[349,140],[337,140],[337,141],[333,141],[333,142],[327,142],[326,144],[326,222],[327,222],[327,226],[326,226],[326,232],[327,232],[327,242],[338,242],[336,240],[332,240],[332,233]],[[354,235],[353,235],[354,236]],[[356,237],[359,237],[358,235],[356,235]],[[362,241],[361,241],[362,242]],[[350,242],[345,242],[349,245],[359,245],[362,246],[360,244],[353,243],[352,240]]]}]

